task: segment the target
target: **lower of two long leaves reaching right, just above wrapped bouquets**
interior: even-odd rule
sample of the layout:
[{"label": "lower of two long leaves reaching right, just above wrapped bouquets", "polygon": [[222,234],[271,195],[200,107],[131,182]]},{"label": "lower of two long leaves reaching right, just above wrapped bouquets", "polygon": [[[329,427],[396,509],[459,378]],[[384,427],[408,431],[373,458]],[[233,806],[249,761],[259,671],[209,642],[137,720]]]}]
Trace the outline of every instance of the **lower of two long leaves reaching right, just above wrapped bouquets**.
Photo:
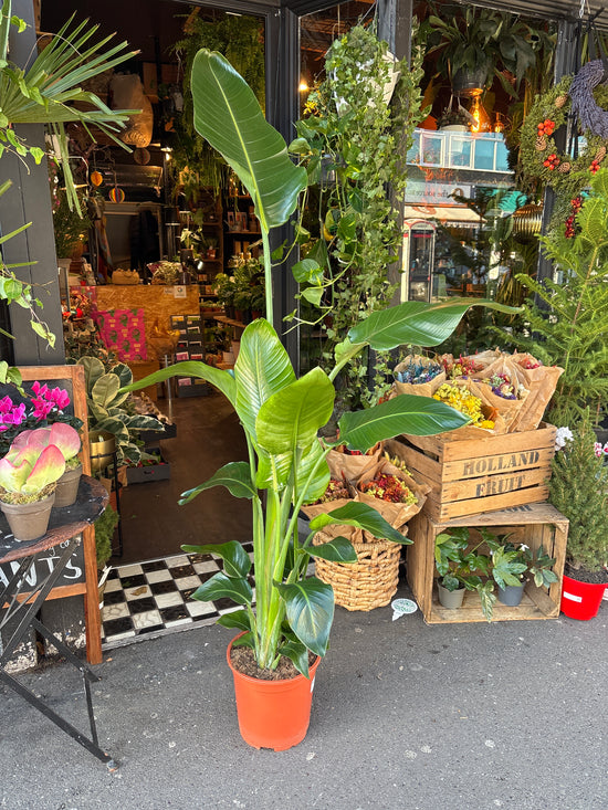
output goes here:
[{"label": "lower of two long leaves reaching right, just above wrapped bouquets", "polygon": [[471,420],[460,411],[430,397],[401,393],[365,411],[345,413],[339,420],[339,439],[352,450],[367,452],[377,442],[401,433],[434,435],[462,428]]}]

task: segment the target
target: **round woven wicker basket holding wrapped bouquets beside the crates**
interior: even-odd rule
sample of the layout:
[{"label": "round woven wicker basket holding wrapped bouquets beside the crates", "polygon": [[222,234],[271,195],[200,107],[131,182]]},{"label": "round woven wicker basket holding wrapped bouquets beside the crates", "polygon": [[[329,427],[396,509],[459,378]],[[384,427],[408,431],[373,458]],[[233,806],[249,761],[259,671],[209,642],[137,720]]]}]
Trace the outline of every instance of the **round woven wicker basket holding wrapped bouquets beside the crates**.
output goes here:
[{"label": "round woven wicker basket holding wrapped bouquets beside the crates", "polygon": [[[403,532],[405,534],[405,532]],[[313,545],[331,537],[318,532]],[[401,545],[389,540],[352,540],[357,562],[329,562],[315,558],[316,576],[334,589],[334,601],[346,610],[373,610],[390,602],[399,581]]]}]

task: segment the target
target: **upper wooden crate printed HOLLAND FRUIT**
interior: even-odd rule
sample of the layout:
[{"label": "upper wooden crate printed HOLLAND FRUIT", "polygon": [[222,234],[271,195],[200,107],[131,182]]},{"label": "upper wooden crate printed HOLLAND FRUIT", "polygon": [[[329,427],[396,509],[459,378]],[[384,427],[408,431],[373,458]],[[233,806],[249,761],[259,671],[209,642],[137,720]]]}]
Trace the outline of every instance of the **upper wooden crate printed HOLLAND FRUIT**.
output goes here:
[{"label": "upper wooden crate printed HOLLAND FRUIT", "polygon": [[436,520],[541,503],[548,497],[556,428],[475,439],[458,431],[400,436],[413,477],[431,487],[424,511]]}]

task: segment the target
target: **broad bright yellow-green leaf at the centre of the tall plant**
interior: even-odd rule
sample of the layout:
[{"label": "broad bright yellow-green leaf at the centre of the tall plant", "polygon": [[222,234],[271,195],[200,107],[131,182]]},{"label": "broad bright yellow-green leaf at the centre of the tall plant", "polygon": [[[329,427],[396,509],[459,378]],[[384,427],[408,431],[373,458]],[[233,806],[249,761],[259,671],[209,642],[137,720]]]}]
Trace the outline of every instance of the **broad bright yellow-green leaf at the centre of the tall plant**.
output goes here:
[{"label": "broad bright yellow-green leaf at the centre of the tall plant", "polygon": [[334,386],[321,368],[273,393],[255,420],[259,444],[269,453],[310,448],[334,410]]}]

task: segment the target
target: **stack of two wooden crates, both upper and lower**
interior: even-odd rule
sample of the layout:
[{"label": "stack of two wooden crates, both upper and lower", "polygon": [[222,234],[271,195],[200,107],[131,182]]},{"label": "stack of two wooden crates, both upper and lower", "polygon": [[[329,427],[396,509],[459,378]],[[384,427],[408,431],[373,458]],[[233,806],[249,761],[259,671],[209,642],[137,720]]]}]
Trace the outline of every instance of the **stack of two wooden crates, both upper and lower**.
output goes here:
[{"label": "stack of two wooden crates, both upper and lower", "polygon": [[472,539],[479,537],[480,526],[509,533],[510,541],[525,543],[533,550],[543,545],[555,557],[558,581],[548,589],[528,582],[518,608],[496,602],[494,621],[559,614],[568,522],[545,503],[555,436],[549,424],[503,435],[465,428],[436,436],[401,436],[400,457],[415,478],[431,487],[422,511],[409,524],[413,545],[407,551],[408,582],[428,623],[485,621],[475,592],[465,593],[459,610],[442,608],[437,598],[434,540],[455,526],[469,527]]}]

